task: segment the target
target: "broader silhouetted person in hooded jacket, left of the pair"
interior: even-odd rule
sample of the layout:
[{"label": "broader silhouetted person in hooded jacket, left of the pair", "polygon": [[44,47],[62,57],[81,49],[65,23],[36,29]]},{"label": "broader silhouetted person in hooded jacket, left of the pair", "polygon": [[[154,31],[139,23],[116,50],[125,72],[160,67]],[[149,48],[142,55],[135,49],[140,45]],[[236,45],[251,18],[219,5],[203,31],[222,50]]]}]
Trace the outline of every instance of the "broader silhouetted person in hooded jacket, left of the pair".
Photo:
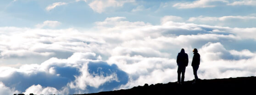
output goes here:
[{"label": "broader silhouetted person in hooded jacket, left of the pair", "polygon": [[[180,53],[178,53],[177,56],[177,65],[178,65],[178,83],[179,84],[184,84],[184,78],[185,78],[185,70],[186,66],[188,66],[189,63],[189,58],[188,54],[185,53],[184,49],[181,49]],[[180,74],[181,76],[181,81],[180,81]]]}]

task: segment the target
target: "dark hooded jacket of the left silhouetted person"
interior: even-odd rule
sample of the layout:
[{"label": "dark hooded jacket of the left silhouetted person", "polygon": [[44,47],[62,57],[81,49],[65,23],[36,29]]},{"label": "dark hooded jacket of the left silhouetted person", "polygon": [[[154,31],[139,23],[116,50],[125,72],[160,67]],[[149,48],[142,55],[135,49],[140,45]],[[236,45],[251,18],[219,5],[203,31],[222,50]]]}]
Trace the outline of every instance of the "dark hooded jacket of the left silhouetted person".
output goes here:
[{"label": "dark hooded jacket of the left silhouetted person", "polygon": [[177,56],[177,65],[178,66],[188,66],[189,64],[189,57],[188,54],[185,53],[185,50],[182,49]]}]

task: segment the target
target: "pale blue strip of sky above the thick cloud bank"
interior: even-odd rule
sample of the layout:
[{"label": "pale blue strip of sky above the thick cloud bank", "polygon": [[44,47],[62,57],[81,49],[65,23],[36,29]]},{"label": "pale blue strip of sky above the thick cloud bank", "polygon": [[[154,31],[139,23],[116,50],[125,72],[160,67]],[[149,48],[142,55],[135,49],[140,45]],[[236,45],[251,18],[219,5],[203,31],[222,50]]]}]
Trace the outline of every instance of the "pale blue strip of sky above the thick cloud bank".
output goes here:
[{"label": "pale blue strip of sky above the thick cloud bank", "polygon": [[[84,0],[2,0],[0,14],[1,18],[5,19],[1,20],[2,23],[0,26],[34,27],[34,25],[42,23],[45,20],[56,20],[62,23],[61,27],[90,28],[96,21],[102,21],[107,17],[115,16],[124,16],[129,21],[144,21],[157,25],[160,24],[159,20],[166,15],[175,15],[188,20],[191,17],[199,16],[255,16],[256,11],[253,3],[250,5],[230,5],[234,2],[239,2],[235,0],[202,1],[206,5],[205,8],[200,8],[203,5],[195,5],[193,6],[194,8],[181,8],[178,5],[173,6],[179,2],[193,4],[191,0],[128,0],[126,2],[120,1],[118,3],[119,5],[113,3],[109,4],[109,6],[106,5],[106,7],[102,6],[92,9],[89,5],[93,2],[92,0],[88,0],[87,2]],[[250,0],[246,0],[245,2],[250,3]],[[54,3],[62,3],[63,5],[56,4],[56,7],[47,10],[47,7]],[[194,3],[196,2],[194,1]],[[93,5],[92,7],[94,8]],[[249,20],[249,23],[247,23],[248,21],[241,22],[243,23],[237,25],[228,21],[228,24],[223,26],[253,27],[253,21],[250,22]],[[200,22],[197,23],[200,24]],[[203,24],[207,23],[203,22]]]}]

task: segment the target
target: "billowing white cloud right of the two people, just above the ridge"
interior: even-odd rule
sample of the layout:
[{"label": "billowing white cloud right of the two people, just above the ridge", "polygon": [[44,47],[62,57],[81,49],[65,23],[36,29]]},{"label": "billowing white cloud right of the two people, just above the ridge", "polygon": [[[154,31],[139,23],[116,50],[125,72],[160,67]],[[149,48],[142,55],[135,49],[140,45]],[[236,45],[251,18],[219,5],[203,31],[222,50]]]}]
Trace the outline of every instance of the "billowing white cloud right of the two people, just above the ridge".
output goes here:
[{"label": "billowing white cloud right of the two people, just above the ridge", "polygon": [[[201,55],[200,76],[203,79],[254,76],[256,60],[248,50],[227,50],[221,43],[207,43],[199,49]],[[246,53],[246,54],[245,54]],[[230,59],[231,58],[231,59]],[[236,59],[236,60],[234,60]]]}]

